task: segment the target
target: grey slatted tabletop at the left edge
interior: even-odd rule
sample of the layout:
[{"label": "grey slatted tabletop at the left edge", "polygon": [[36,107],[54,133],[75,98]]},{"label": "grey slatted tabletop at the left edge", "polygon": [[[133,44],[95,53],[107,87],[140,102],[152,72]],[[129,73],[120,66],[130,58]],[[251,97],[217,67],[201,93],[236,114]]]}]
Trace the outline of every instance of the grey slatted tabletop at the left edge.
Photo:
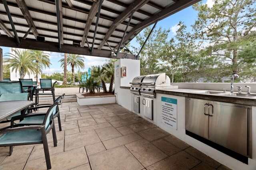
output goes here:
[{"label": "grey slatted tabletop at the left edge", "polygon": [[33,104],[30,100],[0,102],[0,122]]}]

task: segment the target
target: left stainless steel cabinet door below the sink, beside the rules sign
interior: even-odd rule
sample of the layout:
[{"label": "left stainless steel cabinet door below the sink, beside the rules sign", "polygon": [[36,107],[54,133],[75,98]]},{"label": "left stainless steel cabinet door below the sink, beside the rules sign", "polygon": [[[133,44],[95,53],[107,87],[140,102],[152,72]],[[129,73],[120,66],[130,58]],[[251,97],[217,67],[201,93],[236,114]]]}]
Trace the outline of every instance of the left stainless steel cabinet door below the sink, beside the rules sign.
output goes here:
[{"label": "left stainless steel cabinet door below the sink, beside the rules sign", "polygon": [[204,113],[208,114],[207,101],[186,98],[185,100],[186,130],[208,139],[209,118],[208,118],[208,115],[205,115]]}]

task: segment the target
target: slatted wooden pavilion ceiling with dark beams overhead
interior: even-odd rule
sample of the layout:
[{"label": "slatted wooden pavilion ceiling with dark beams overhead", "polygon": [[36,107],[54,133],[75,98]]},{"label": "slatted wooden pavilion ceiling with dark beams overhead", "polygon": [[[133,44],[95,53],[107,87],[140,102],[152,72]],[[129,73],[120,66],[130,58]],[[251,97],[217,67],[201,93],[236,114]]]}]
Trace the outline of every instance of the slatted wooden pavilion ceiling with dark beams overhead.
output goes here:
[{"label": "slatted wooden pavilion ceiling with dark beams overhead", "polygon": [[[111,50],[199,1],[0,0],[0,46],[135,59],[124,53],[111,56]],[[38,36],[45,42],[36,41]]]}]

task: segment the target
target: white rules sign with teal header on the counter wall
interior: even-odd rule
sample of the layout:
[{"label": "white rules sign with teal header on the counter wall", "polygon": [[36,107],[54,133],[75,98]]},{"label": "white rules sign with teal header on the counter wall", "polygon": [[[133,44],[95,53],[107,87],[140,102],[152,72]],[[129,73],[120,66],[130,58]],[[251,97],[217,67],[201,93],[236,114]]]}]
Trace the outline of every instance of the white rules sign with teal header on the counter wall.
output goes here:
[{"label": "white rules sign with teal header on the counter wall", "polygon": [[177,130],[177,99],[161,98],[162,123]]}]

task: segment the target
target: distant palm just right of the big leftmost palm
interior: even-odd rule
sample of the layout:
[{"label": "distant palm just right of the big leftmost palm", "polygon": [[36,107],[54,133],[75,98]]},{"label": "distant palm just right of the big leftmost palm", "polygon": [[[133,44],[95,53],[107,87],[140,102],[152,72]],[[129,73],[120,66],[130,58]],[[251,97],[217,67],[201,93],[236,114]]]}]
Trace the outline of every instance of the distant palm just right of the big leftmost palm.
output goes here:
[{"label": "distant palm just right of the big leftmost palm", "polygon": [[[39,66],[50,68],[50,65],[52,65],[48,53],[39,50],[31,50],[30,53],[35,57],[36,63],[38,63]],[[38,82],[38,73],[36,73],[36,82]]]}]

